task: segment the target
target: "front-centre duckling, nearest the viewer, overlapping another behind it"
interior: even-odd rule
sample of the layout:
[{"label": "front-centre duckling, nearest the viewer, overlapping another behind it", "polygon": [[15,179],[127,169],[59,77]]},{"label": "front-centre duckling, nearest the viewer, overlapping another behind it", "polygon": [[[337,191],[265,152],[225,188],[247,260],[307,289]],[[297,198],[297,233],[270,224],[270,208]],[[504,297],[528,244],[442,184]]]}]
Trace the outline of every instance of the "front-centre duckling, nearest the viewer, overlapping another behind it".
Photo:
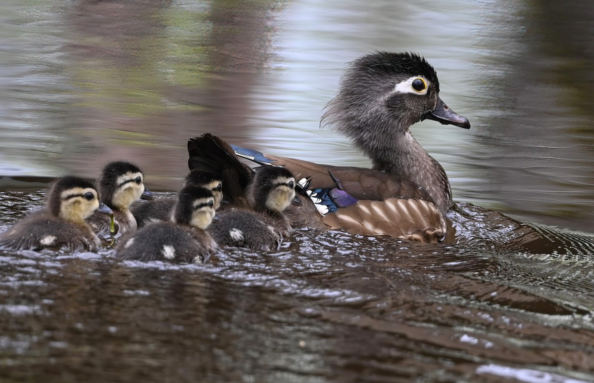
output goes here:
[{"label": "front-centre duckling, nearest the viewer, overlapping another behind it", "polygon": [[124,260],[203,262],[217,248],[204,231],[213,217],[213,192],[186,184],[178,192],[169,222],[150,222],[125,235],[113,255]]}]

